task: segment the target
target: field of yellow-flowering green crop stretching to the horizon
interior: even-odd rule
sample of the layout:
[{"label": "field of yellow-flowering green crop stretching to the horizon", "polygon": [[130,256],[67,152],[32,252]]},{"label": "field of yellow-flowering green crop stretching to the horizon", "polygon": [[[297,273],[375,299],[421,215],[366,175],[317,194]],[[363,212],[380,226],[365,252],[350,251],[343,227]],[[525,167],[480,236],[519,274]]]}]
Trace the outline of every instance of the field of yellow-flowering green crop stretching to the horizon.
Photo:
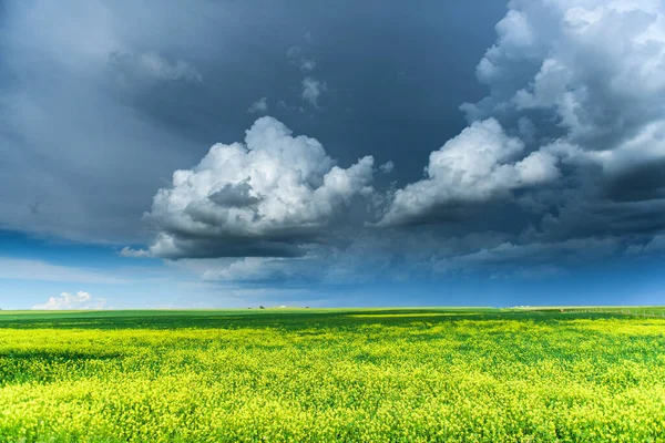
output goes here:
[{"label": "field of yellow-flowering green crop stretching to the horizon", "polygon": [[0,442],[659,442],[664,312],[0,311]]}]

